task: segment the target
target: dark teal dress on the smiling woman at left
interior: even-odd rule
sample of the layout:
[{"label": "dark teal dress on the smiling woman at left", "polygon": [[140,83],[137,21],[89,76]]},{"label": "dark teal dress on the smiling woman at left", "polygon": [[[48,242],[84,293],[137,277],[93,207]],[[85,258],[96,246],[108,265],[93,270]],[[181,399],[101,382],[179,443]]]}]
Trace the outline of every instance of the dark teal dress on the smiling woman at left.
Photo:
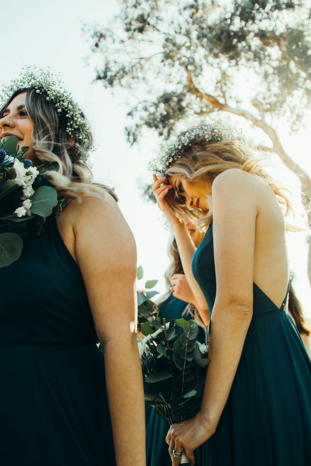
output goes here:
[{"label": "dark teal dress on the smiling woman at left", "polygon": [[0,268],[0,463],[115,465],[104,356],[56,219]]}]

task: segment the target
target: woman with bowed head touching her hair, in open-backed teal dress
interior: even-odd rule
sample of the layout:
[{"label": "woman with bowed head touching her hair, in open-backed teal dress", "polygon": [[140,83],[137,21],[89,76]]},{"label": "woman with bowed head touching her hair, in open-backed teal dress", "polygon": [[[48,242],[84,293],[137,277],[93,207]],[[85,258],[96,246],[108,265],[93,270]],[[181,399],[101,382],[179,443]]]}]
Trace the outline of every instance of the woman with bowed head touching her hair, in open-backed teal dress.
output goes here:
[{"label": "woman with bowed head touching her hair, in open-backed teal dress", "polygon": [[[257,162],[239,133],[211,123],[182,133],[152,163],[158,205],[211,315],[200,412],[166,439],[174,466],[183,450],[194,465],[206,441],[206,466],[311,463],[311,361],[286,313],[290,203]],[[197,249],[185,214],[207,229]]]}]

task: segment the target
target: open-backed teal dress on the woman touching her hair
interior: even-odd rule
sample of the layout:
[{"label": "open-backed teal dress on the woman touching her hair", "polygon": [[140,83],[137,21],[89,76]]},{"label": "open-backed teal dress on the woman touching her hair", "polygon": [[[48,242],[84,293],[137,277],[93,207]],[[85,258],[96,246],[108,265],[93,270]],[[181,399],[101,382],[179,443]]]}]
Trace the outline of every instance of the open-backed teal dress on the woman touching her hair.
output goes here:
[{"label": "open-backed teal dress on the woman touching her hair", "polygon": [[[213,225],[192,267],[211,313],[216,296]],[[284,305],[277,308],[255,283],[253,288],[253,317],[216,432],[203,445],[203,464],[310,466],[311,361]]]}]

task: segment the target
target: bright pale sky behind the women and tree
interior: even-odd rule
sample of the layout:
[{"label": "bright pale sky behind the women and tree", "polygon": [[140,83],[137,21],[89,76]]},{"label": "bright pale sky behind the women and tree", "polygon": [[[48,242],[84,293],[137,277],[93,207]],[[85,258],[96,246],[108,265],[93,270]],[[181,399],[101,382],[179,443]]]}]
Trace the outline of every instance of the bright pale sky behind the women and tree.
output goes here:
[{"label": "bright pale sky behind the women and tree", "polygon": [[[90,120],[98,150],[91,155],[97,181],[114,186],[120,208],[134,233],[138,247],[138,265],[145,270],[144,280],[159,279],[155,287],[163,292],[163,273],[168,265],[166,245],[169,233],[159,209],[141,198],[139,182],[151,180],[146,164],[159,149],[159,140],[146,133],[141,144],[129,147],[124,135],[127,108],[118,92],[111,96],[100,82],[92,83],[95,70],[88,65],[90,48],[82,34],[84,23],[105,24],[118,10],[117,0],[0,0],[2,22],[11,24],[2,34],[1,83],[20,74],[23,63],[59,73]],[[310,135],[308,129],[299,137],[290,137],[286,124],[280,126],[283,146],[311,175]],[[311,291],[306,279],[304,238],[290,241],[291,268],[298,279],[294,286],[311,317]],[[144,281],[143,281],[144,282]],[[143,283],[140,284],[143,286]],[[120,297],[120,299],[122,299]]]}]

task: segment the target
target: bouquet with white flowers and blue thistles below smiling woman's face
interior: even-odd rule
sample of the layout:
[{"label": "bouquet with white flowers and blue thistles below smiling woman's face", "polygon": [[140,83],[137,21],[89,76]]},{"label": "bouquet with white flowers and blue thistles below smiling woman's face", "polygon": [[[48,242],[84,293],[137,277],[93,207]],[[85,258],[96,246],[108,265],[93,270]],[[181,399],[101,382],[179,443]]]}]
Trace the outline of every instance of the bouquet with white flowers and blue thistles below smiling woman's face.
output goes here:
[{"label": "bouquet with white flowers and blue thistles below smiling woman's face", "polygon": [[58,202],[55,189],[40,175],[40,167],[33,167],[27,159],[27,151],[28,147],[19,149],[15,136],[3,138],[0,144],[0,232],[4,227],[19,232],[0,234],[0,267],[7,267],[20,257],[20,234],[27,234],[29,220],[35,219],[40,234],[44,217],[63,202]]}]

